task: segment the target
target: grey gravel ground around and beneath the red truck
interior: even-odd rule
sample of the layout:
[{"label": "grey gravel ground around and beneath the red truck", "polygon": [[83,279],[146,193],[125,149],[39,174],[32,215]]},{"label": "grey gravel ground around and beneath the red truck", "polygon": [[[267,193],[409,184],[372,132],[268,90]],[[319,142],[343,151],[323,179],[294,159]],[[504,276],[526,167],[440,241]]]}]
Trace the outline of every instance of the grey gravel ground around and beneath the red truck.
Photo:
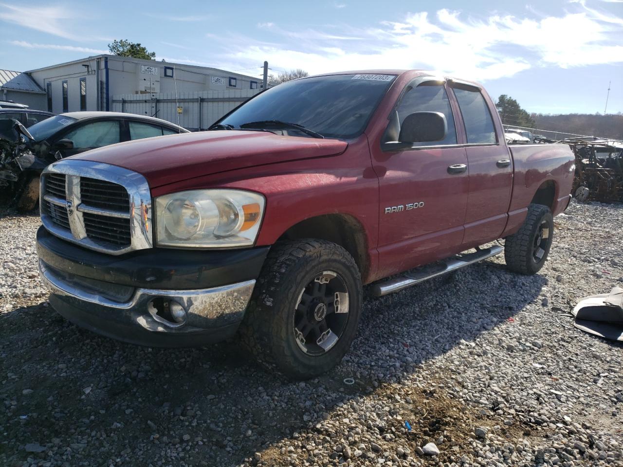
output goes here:
[{"label": "grey gravel ground around and beneath the red truck", "polygon": [[623,282],[622,205],[572,204],[536,276],[498,256],[366,300],[342,364],[298,383],[235,342],[149,349],[67,323],[37,225],[0,219],[2,466],[623,466],[623,347],[568,315]]}]

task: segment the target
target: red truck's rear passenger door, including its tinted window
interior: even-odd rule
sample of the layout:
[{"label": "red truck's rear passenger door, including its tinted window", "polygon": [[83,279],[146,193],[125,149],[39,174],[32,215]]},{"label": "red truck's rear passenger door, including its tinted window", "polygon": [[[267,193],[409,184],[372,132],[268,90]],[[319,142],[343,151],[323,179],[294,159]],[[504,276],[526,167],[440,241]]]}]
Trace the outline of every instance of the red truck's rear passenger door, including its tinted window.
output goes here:
[{"label": "red truck's rear passenger door, including its tinted window", "polygon": [[506,225],[513,184],[513,161],[496,131],[492,103],[478,87],[450,82],[465,129],[469,194],[464,247],[500,237]]}]

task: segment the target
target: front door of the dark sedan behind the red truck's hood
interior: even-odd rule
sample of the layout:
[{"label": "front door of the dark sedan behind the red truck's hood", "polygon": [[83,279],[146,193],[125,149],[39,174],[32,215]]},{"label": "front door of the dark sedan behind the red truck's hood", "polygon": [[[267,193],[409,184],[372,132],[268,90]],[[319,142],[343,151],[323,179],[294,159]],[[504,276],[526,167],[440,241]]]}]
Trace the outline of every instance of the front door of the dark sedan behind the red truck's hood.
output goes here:
[{"label": "front door of the dark sedan behind the red truck's hood", "polygon": [[120,143],[121,125],[120,120],[97,120],[88,121],[78,125],[65,134],[61,134],[60,139],[70,139],[74,143],[71,149],[58,149],[63,158],[80,154],[89,149],[101,148],[110,144]]}]

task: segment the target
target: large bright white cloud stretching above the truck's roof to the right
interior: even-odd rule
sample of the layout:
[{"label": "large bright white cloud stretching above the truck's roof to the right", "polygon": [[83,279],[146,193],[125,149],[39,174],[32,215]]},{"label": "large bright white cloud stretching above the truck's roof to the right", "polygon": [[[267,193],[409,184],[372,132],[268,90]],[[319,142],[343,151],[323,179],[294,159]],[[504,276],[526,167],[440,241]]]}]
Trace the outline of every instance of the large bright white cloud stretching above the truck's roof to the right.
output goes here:
[{"label": "large bright white cloud stretching above the truck's roof to the right", "polygon": [[[368,29],[264,27],[275,35],[259,44],[230,38],[227,60],[249,66],[268,60],[275,68],[310,73],[366,68],[429,68],[477,80],[510,77],[532,67],[623,62],[623,19],[587,8],[561,16],[466,16],[440,9],[381,21]],[[530,12],[528,13],[530,14]],[[340,34],[333,34],[333,31]],[[254,44],[249,46],[249,44]]]}]

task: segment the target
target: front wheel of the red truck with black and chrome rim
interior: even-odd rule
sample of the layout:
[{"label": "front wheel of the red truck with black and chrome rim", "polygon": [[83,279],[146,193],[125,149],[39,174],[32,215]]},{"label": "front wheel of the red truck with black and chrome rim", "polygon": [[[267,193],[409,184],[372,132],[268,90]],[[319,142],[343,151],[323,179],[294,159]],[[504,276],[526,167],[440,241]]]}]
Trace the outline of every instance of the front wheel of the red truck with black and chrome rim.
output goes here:
[{"label": "front wheel of the red truck with black and chrome rim", "polygon": [[318,376],[350,349],[362,296],[359,270],[344,248],[313,239],[278,243],[240,325],[242,345],[287,377]]}]

